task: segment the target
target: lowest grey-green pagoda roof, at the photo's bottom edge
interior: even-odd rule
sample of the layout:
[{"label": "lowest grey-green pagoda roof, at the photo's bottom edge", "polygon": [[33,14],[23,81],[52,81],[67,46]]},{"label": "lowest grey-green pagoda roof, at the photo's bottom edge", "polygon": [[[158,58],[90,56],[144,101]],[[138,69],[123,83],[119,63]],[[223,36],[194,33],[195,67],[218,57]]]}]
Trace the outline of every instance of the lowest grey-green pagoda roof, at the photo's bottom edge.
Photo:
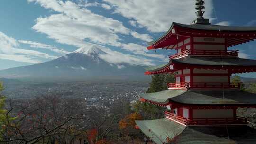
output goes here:
[{"label": "lowest grey-green pagoda roof, at the photo's bottom edge", "polygon": [[256,130],[247,126],[186,127],[168,119],[135,121],[156,144],[255,144]]}]

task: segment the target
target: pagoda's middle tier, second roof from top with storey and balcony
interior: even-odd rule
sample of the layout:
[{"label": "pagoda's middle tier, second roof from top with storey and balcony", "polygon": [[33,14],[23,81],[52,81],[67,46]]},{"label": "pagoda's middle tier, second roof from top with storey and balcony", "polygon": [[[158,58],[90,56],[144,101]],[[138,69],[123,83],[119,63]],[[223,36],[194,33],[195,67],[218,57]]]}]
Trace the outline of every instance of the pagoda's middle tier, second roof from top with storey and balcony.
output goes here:
[{"label": "pagoda's middle tier, second roof from top with storey and balcony", "polygon": [[256,60],[238,57],[186,56],[171,59],[166,65],[149,68],[146,75],[175,73],[176,82],[169,89],[240,90],[241,83],[231,83],[235,73],[256,72]]}]

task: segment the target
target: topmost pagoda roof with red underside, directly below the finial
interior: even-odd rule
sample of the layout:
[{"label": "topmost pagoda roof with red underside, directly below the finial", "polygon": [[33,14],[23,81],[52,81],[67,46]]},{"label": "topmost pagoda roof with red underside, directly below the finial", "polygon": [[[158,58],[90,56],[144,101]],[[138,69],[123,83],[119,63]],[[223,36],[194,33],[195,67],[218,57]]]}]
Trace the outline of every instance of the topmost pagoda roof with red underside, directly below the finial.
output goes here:
[{"label": "topmost pagoda roof with red underside, directly below the finial", "polygon": [[[174,30],[174,31],[173,31]],[[177,38],[177,36],[179,38]],[[147,49],[172,48],[188,37],[225,37],[228,47],[256,38],[256,27],[221,26],[211,24],[180,24],[173,22],[169,30],[157,40],[148,42]],[[179,39],[179,40],[178,40]]]}]

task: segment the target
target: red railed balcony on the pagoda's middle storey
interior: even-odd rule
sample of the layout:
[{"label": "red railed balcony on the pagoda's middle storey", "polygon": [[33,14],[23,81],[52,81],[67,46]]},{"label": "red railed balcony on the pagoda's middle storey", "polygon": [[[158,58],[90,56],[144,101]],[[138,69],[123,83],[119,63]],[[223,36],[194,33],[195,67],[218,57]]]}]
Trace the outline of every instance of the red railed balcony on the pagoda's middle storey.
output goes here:
[{"label": "red railed balcony on the pagoda's middle storey", "polygon": [[167,83],[168,89],[235,89],[240,90],[242,83]]}]

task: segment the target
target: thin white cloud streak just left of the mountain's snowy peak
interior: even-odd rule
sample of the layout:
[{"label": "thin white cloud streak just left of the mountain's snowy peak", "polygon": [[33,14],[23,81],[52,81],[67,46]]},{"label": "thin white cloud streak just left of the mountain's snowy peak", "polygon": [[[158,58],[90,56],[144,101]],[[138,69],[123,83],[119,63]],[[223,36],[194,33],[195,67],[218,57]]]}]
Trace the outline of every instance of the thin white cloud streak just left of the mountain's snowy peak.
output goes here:
[{"label": "thin white cloud streak just left of the mountain's snowy peak", "polygon": [[28,44],[28,45],[30,45],[30,47],[34,47],[34,48],[42,48],[42,49],[51,50],[55,53],[62,54],[62,55],[70,53],[68,51],[65,51],[64,49],[59,49],[55,46],[46,45],[46,44],[42,44],[39,42],[32,42],[32,41],[27,41],[27,40],[19,40],[18,42],[22,43],[22,44]]}]

